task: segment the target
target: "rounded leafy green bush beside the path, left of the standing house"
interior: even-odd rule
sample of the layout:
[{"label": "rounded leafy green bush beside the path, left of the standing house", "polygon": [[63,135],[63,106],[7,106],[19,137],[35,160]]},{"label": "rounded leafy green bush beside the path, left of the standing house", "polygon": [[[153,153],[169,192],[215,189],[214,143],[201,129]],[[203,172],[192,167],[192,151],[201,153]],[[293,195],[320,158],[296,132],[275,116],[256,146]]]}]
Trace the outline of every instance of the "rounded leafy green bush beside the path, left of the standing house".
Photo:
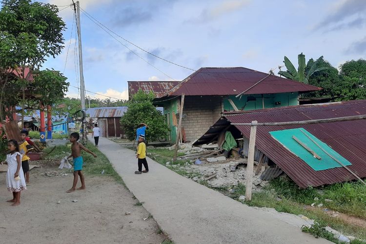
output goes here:
[{"label": "rounded leafy green bush beside the path, left of the standing house", "polygon": [[155,98],[153,92],[144,93],[141,89],[128,102],[128,110],[121,118],[122,129],[129,140],[136,137],[136,129],[140,123],[146,123],[146,140],[155,141],[158,137],[166,137],[169,128],[165,123],[162,113],[156,110],[152,101]]}]

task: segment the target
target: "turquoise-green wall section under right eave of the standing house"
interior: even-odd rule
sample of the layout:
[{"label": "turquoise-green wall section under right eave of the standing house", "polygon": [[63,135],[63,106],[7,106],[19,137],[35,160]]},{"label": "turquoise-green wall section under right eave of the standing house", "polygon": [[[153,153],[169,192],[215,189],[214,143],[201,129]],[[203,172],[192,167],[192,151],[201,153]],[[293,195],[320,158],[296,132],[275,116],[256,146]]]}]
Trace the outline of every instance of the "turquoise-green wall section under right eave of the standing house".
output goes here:
[{"label": "turquoise-green wall section under right eave of the standing house", "polygon": [[234,111],[234,108],[231,106],[228,99],[231,99],[239,110],[263,109],[263,101],[264,108],[299,104],[297,92],[243,95],[241,99],[236,98],[235,96],[229,96],[224,99],[224,110],[226,111]]}]

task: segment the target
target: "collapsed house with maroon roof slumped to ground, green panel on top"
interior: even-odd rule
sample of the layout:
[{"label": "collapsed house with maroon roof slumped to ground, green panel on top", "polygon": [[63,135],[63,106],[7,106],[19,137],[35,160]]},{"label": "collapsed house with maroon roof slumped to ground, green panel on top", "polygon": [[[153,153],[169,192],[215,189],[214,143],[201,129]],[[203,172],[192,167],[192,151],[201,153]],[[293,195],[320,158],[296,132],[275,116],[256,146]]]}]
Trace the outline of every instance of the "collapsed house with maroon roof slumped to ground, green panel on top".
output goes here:
[{"label": "collapsed house with maroon roof slumped to ground, green panel on top", "polygon": [[[217,142],[227,130],[244,142],[243,154],[247,156],[250,126],[232,123],[297,122],[359,115],[366,115],[366,100],[226,112],[194,145]],[[257,126],[255,146],[256,161],[264,155],[267,169],[273,169],[269,171],[284,171],[302,188],[355,180],[355,175],[366,177],[366,120]]]}]

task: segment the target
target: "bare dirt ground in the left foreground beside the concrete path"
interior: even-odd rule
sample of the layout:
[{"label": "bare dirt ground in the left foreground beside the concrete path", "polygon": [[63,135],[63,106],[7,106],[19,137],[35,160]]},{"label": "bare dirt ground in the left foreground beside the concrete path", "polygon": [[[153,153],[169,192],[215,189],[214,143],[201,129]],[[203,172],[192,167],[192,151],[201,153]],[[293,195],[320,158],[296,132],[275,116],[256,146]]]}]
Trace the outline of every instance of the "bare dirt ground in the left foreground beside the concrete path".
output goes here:
[{"label": "bare dirt ground in the left foreground beside the concrete path", "polygon": [[12,194],[6,190],[6,173],[0,173],[2,241],[159,244],[166,239],[157,234],[159,227],[154,219],[143,221],[149,213],[134,205],[137,200],[122,184],[108,177],[87,176],[86,190],[66,193],[73,175],[45,176],[49,171],[44,167],[31,170],[31,183],[22,191],[21,204],[16,207],[6,203]]}]

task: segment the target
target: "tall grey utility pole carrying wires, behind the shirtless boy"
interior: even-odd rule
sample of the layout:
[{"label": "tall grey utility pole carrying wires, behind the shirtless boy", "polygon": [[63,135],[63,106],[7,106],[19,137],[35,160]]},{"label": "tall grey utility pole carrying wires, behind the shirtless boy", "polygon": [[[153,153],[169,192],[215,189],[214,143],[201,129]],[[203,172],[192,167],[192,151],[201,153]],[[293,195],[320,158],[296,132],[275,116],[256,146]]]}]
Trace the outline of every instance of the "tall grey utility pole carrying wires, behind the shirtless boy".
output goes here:
[{"label": "tall grey utility pole carrying wires, behind the shirtless boy", "polygon": [[[81,110],[85,111],[85,83],[84,83],[84,73],[82,70],[82,48],[81,48],[81,26],[80,26],[80,5],[79,1],[75,2],[73,0],[74,8],[76,7],[77,14],[77,27],[78,27],[78,40],[79,40],[79,65],[80,65],[80,98],[81,98]],[[82,128],[82,140],[86,142],[86,130],[85,130],[85,119],[81,122]]]}]

